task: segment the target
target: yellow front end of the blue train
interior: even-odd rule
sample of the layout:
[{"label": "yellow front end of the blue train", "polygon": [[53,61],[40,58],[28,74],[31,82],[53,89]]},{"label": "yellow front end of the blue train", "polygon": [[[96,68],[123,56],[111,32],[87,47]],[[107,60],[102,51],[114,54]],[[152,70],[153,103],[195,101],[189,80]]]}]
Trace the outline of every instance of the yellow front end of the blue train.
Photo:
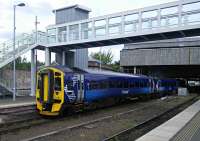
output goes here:
[{"label": "yellow front end of the blue train", "polygon": [[41,115],[57,116],[64,103],[64,73],[45,67],[37,72],[36,105]]}]

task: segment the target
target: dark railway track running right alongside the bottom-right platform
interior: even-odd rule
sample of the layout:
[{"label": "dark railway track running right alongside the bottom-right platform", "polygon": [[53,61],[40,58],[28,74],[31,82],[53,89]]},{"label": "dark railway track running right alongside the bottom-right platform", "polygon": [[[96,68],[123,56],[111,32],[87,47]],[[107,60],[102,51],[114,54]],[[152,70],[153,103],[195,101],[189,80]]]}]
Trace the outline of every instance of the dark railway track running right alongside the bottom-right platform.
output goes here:
[{"label": "dark railway track running right alongside the bottom-right platform", "polygon": [[181,112],[183,109],[197,101],[199,98],[194,97],[190,101],[187,101],[185,103],[182,103],[175,108],[169,109],[159,115],[156,115],[155,117],[151,117],[147,119],[146,121],[131,127],[129,129],[125,129],[119,133],[116,133],[108,138],[105,138],[103,141],[132,141],[135,140],[142,135],[146,134],[150,130],[154,129],[155,127],[161,125],[165,121],[169,120],[171,117],[175,116],[179,112]]}]

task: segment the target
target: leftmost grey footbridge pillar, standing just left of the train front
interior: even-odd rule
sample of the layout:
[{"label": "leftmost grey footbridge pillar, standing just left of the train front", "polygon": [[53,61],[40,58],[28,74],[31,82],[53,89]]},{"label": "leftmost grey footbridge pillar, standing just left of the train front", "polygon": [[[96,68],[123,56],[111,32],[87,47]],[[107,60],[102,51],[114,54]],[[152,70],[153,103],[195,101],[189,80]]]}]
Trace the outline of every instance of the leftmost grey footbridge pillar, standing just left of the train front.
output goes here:
[{"label": "leftmost grey footbridge pillar, standing just left of the train front", "polygon": [[35,50],[31,50],[31,94],[30,96],[35,96],[36,87],[36,56]]}]

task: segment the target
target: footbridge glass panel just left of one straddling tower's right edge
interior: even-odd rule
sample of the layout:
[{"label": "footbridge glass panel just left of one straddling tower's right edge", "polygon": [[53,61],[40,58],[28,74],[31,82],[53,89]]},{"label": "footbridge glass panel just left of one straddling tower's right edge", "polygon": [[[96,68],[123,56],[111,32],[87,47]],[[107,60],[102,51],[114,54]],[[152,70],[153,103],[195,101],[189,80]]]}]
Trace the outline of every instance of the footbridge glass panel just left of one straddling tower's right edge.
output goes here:
[{"label": "footbridge glass panel just left of one straddling tower's right edge", "polygon": [[69,41],[79,39],[79,27],[78,24],[69,26]]}]

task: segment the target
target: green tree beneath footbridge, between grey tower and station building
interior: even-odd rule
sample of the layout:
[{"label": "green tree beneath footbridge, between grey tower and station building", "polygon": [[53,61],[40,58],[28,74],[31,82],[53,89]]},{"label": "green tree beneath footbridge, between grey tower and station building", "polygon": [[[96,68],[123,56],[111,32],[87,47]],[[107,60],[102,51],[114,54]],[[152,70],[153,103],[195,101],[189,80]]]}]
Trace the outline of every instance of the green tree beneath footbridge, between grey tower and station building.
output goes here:
[{"label": "green tree beneath footbridge, between grey tower and station building", "polygon": [[101,63],[105,64],[105,65],[111,64],[113,61],[113,54],[110,50],[108,52],[106,52],[106,51],[100,52],[99,51],[99,52],[91,53],[90,56],[94,59],[101,61]]}]

